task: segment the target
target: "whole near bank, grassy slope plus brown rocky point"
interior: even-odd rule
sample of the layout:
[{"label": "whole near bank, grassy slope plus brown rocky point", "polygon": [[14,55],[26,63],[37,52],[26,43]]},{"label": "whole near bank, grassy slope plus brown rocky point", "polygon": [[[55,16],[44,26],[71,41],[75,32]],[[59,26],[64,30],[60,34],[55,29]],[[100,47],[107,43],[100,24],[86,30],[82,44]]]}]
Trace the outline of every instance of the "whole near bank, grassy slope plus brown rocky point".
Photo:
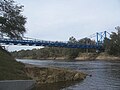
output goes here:
[{"label": "whole near bank, grassy slope plus brown rocky point", "polygon": [[79,81],[86,77],[84,73],[67,69],[24,65],[2,48],[0,48],[0,72],[0,80],[35,80],[37,84]]}]

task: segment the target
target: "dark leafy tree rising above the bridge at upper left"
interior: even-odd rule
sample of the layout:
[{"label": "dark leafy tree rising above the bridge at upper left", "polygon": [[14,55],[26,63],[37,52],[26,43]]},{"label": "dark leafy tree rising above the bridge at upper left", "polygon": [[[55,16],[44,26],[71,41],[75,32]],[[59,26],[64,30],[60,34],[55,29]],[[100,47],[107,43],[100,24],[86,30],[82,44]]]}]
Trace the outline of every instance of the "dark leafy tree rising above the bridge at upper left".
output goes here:
[{"label": "dark leafy tree rising above the bridge at upper left", "polygon": [[23,6],[13,0],[0,0],[0,32],[10,38],[21,39],[26,32]]}]

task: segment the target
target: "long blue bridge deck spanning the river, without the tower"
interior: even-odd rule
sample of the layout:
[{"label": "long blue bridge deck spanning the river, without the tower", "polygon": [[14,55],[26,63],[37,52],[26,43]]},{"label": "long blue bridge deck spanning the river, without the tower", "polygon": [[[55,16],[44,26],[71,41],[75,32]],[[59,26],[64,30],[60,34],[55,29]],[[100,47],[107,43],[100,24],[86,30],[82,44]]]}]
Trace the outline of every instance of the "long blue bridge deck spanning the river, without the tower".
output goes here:
[{"label": "long blue bridge deck spanning the river, without the tower", "polygon": [[27,45],[27,46],[48,46],[48,47],[65,47],[65,48],[84,48],[84,49],[101,49],[101,45],[74,44],[69,42],[58,41],[38,41],[38,40],[16,40],[0,39],[1,44],[5,45]]}]

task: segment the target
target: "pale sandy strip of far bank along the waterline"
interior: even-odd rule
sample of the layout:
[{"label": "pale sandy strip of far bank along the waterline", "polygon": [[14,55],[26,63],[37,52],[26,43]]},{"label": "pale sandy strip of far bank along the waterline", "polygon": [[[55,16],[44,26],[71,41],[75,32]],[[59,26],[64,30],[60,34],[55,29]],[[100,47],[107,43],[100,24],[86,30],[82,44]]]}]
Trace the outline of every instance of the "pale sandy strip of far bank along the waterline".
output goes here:
[{"label": "pale sandy strip of far bank along the waterline", "polygon": [[[30,57],[23,57],[22,59],[33,59]],[[48,58],[37,58],[37,60],[69,60],[67,57],[48,57]],[[76,58],[73,60],[80,60],[80,61],[91,61],[91,60],[120,60],[120,57],[109,55],[105,52],[102,53],[80,53]]]}]

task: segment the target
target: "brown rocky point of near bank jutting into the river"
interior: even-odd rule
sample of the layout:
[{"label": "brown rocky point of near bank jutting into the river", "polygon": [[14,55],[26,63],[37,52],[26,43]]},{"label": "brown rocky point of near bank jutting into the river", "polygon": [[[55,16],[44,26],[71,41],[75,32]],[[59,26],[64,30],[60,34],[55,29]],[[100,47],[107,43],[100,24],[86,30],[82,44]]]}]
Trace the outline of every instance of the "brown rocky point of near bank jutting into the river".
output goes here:
[{"label": "brown rocky point of near bank jutting into the river", "polygon": [[37,84],[57,83],[66,81],[84,80],[87,74],[61,68],[46,67],[26,67],[27,75],[37,82]]}]

